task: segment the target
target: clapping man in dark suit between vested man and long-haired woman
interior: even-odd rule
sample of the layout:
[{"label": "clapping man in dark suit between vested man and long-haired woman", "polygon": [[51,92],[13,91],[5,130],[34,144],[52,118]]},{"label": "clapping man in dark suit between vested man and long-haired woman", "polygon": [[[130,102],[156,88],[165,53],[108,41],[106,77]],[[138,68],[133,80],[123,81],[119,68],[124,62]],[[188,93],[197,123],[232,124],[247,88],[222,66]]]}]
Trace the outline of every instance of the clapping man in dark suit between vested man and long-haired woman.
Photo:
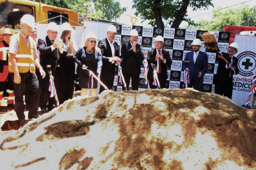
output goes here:
[{"label": "clapping man in dark suit between vested man and long-haired woman", "polygon": [[[50,75],[48,74],[47,65],[51,65],[52,73],[54,76],[54,84],[55,89],[57,92],[57,97],[60,103],[63,103],[62,95],[64,93],[60,92],[61,84],[60,80],[62,79],[61,76],[61,68],[60,68],[60,61],[61,55],[67,55],[67,51],[62,48],[61,42],[57,41],[57,34],[58,34],[58,28],[55,23],[49,23],[47,25],[47,36],[45,38],[39,38],[38,39],[38,49],[40,51],[40,63],[43,67],[43,70],[46,73],[46,76],[44,79],[39,78],[39,82],[42,88],[41,96],[40,96],[40,103],[39,106],[41,108],[42,113],[46,113],[47,110],[51,111],[54,106],[56,105],[55,98],[50,98],[50,92],[48,91],[49,87],[49,80]],[[62,68],[64,69],[64,68]],[[64,72],[64,71],[63,71]],[[48,102],[48,105],[46,105]],[[47,108],[47,109],[46,109]]]}]

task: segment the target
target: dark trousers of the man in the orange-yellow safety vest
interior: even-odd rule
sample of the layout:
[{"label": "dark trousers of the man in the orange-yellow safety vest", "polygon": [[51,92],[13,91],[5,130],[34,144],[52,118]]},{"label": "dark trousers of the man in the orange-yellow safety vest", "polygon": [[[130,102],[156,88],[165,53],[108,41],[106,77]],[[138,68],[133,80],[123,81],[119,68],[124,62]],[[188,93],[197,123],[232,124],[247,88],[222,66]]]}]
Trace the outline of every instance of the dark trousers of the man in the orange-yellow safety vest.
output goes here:
[{"label": "dark trousers of the man in the orange-yellow safety vest", "polygon": [[15,95],[15,111],[19,120],[25,119],[24,115],[24,101],[23,94],[25,88],[25,82],[27,83],[29,89],[31,90],[31,102],[28,112],[28,117],[34,117],[37,115],[38,104],[40,99],[41,88],[38,83],[38,79],[35,73],[19,73],[21,75],[21,83],[16,84],[14,82],[14,73],[11,73],[11,79],[14,85],[14,95]]}]

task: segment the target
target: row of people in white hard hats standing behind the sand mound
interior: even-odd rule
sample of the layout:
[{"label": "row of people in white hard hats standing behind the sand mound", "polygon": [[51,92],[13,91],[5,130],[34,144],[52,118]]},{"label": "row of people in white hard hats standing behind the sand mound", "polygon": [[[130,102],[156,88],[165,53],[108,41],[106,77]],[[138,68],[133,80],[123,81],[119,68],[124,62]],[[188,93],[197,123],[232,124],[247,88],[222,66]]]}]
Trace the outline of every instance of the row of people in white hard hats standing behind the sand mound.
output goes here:
[{"label": "row of people in white hard hats standing behind the sand mound", "polygon": [[[38,107],[46,113],[73,98],[75,63],[81,95],[96,95],[97,80],[100,78],[107,89],[112,89],[115,76],[115,65],[121,63],[123,81],[129,86],[132,80],[132,90],[138,90],[141,65],[148,65],[147,78],[152,89],[165,88],[168,78],[167,68],[172,65],[169,51],[163,49],[162,36],[155,38],[155,49],[150,50],[144,58],[142,46],[137,44],[138,33],[130,31],[130,41],[119,46],[114,41],[116,27],[111,25],[106,30],[106,38],[99,41],[94,33],[87,33],[84,45],[77,47],[72,39],[70,24],[61,27],[61,39],[57,39],[58,27],[49,23],[46,37],[36,37],[35,19],[31,15],[21,18],[21,31],[15,34],[10,27],[3,27],[0,42],[0,104],[4,89],[7,92],[7,107],[15,108],[19,125],[24,126],[25,95],[28,119],[37,119]],[[10,38],[11,37],[11,38]],[[188,87],[202,91],[203,76],[208,67],[208,56],[200,51],[201,41],[195,39],[193,51],[188,52],[184,61],[190,61],[187,66],[183,63],[182,70],[189,69]],[[232,76],[238,73],[237,58],[233,57],[238,51],[238,44],[232,43],[228,53],[219,54],[216,93],[232,96]],[[153,69],[152,66],[155,66]],[[51,71],[50,69],[51,68]],[[54,80],[53,80],[54,78]],[[155,83],[155,79],[157,82]],[[51,81],[52,80],[52,81]],[[55,88],[52,87],[54,82]],[[123,83],[123,90],[126,89]],[[228,85],[227,85],[228,84]],[[53,91],[55,90],[55,91]],[[100,93],[105,90],[103,86]],[[56,93],[56,94],[55,94]],[[57,95],[57,98],[53,96]],[[14,98],[15,96],[15,98]],[[14,100],[15,99],[15,105]],[[58,99],[58,100],[57,100]]]}]

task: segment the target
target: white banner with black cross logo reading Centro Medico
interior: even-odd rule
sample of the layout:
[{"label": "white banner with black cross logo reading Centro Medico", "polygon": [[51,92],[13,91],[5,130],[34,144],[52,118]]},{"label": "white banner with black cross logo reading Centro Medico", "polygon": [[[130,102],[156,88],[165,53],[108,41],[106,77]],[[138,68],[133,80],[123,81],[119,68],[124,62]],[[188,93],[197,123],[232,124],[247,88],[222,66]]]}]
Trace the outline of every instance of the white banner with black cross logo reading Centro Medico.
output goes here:
[{"label": "white banner with black cross logo reading Centro Medico", "polygon": [[[233,76],[232,100],[238,105],[246,103],[251,89],[251,79],[256,71],[256,37],[235,35],[235,42],[239,45],[238,53],[238,75]],[[249,105],[252,106],[253,94]]]}]

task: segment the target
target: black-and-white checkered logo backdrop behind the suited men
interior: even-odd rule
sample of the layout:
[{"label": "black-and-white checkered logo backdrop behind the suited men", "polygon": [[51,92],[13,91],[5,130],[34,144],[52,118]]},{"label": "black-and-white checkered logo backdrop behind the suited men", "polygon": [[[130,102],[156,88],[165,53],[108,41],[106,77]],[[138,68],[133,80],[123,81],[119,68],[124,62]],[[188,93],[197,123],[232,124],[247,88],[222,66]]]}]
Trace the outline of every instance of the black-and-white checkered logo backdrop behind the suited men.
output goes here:
[{"label": "black-and-white checkered logo backdrop behind the suited men", "polygon": [[[129,42],[129,35],[132,29],[138,31],[139,37],[137,43],[143,47],[143,52],[148,52],[155,48],[155,37],[163,36],[164,46],[163,48],[170,52],[172,59],[172,66],[168,66],[168,79],[165,88],[185,88],[183,80],[182,61],[185,58],[186,52],[193,51],[192,41],[195,38],[199,38],[202,41],[201,51],[206,52],[208,55],[208,71],[204,75],[203,91],[204,92],[215,92],[214,90],[214,77],[218,69],[218,58],[216,58],[215,53],[209,52],[204,44],[201,35],[206,32],[206,30],[191,30],[191,29],[175,29],[175,28],[159,28],[159,27],[144,27],[144,26],[132,26],[132,25],[115,25],[117,33],[115,36],[115,41],[117,44],[121,45],[123,42]],[[214,31],[216,41],[221,51],[227,52],[229,46],[229,36],[230,33]],[[121,55],[121,52],[120,52]],[[144,55],[146,58],[147,55]],[[141,75],[139,81],[139,89],[148,88],[145,86],[145,77],[143,76],[144,68],[141,65]],[[115,81],[112,90],[121,91],[121,84],[117,83],[119,78],[118,69],[116,66]],[[126,84],[129,84],[126,82]],[[131,82],[130,86],[131,88]]]}]

